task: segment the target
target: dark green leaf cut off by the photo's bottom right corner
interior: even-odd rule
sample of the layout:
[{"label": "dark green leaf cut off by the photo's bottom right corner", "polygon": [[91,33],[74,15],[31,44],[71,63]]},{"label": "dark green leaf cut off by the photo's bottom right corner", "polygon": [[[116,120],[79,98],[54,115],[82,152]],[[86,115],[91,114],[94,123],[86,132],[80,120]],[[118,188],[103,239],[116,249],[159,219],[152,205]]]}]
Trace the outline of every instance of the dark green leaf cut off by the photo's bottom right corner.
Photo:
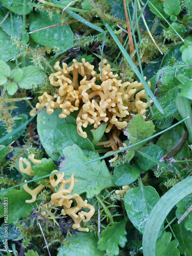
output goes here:
[{"label": "dark green leaf cut off by the photo's bottom right corner", "polygon": [[187,231],[184,226],[185,220],[183,220],[180,224],[174,224],[172,228],[177,240],[179,241],[179,250],[181,255],[191,256],[192,233]]}]

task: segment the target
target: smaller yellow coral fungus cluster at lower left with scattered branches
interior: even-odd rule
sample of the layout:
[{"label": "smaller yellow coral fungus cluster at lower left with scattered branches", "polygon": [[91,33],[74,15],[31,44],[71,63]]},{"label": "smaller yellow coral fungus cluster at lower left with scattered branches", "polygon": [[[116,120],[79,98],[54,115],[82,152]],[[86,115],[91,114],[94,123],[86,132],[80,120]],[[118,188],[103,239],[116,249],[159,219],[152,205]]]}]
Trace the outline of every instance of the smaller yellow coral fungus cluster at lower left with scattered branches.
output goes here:
[{"label": "smaller yellow coral fungus cluster at lower left with scattered branches", "polygon": [[[31,162],[33,164],[41,164],[41,160],[37,160],[34,158],[34,154],[29,155],[29,159],[31,160]],[[23,164],[26,164],[27,167],[24,168]],[[22,158],[20,157],[19,159],[19,169],[22,173],[28,174],[30,176],[33,176],[32,172],[32,166],[31,163],[26,159],[26,158]],[[49,187],[52,191],[53,194],[51,195],[51,201],[49,203],[44,204],[44,209],[46,209],[47,207],[49,207],[49,210],[51,210],[51,206],[61,206],[63,207],[63,209],[61,210],[61,214],[63,216],[68,215],[70,216],[73,221],[73,228],[74,229],[78,229],[80,231],[89,231],[89,228],[83,228],[80,226],[81,221],[83,222],[88,222],[90,221],[91,217],[94,215],[95,212],[95,208],[91,205],[88,204],[88,200],[84,200],[78,195],[78,194],[73,194],[71,195],[71,191],[74,187],[74,184],[76,182],[78,182],[77,180],[74,179],[74,173],[71,176],[71,179],[65,180],[64,179],[64,173],[58,173],[55,174],[57,179],[54,179],[54,173],[58,172],[58,170],[53,170],[51,173],[53,175],[50,176],[49,178],[49,182],[46,185],[47,187]],[[65,185],[66,184],[70,184],[70,186],[66,189]],[[55,191],[55,187],[59,186],[58,190]],[[30,189],[27,184],[24,185],[24,189],[27,191],[27,193],[29,193],[32,196],[31,200],[26,200],[26,203],[33,203],[36,201],[37,198],[37,194],[42,190],[42,188],[44,188],[44,186],[42,184],[38,185],[35,189]],[[72,206],[73,200],[74,199],[76,201],[76,206]],[[89,211],[83,211],[81,210],[81,208],[88,208]],[[81,210],[81,211],[80,211]],[[77,215],[78,212],[78,215]],[[48,214],[46,211],[42,211],[41,212],[41,216],[43,217],[47,217]],[[38,217],[39,219],[43,219],[43,217]]]}]

